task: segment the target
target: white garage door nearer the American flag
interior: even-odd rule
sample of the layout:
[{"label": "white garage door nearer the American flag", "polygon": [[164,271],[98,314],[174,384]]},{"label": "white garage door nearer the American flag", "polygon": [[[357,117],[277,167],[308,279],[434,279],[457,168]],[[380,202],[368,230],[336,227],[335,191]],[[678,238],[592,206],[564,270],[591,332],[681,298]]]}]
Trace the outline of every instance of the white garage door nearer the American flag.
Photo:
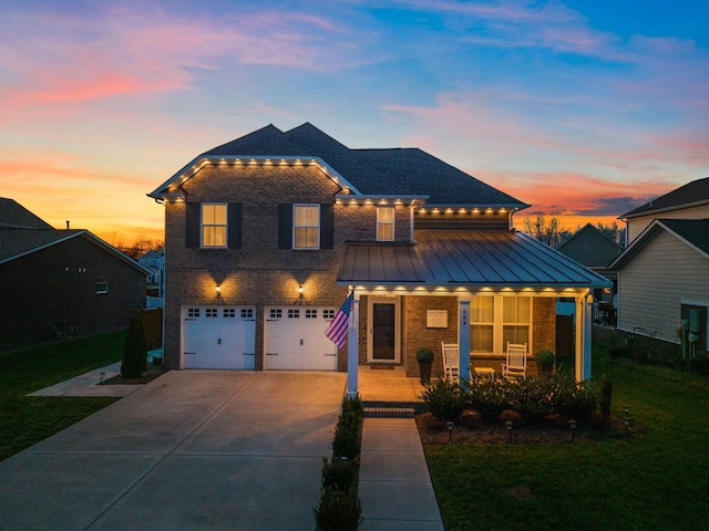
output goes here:
[{"label": "white garage door nearer the American flag", "polygon": [[266,306],[266,369],[336,371],[337,346],[325,336],[331,306]]}]

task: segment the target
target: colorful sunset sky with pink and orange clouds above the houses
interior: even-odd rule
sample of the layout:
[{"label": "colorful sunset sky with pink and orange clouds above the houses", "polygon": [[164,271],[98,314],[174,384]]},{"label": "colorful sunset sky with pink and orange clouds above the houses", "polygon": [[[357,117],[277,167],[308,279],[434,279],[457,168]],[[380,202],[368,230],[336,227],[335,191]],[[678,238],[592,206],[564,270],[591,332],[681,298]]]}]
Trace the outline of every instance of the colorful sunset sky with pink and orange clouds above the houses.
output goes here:
[{"label": "colorful sunset sky with pink and orange clouds above the houses", "polygon": [[110,243],[267,124],[420,147],[567,229],[709,176],[709,2],[2,2],[9,197]]}]

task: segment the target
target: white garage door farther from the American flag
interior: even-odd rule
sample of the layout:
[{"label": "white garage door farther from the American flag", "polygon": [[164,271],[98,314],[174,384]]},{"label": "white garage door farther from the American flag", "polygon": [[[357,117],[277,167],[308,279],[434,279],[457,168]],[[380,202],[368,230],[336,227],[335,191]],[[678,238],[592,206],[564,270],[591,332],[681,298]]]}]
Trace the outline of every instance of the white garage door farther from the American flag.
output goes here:
[{"label": "white garage door farther from the American flag", "polygon": [[253,306],[183,306],[184,368],[254,369]]}]

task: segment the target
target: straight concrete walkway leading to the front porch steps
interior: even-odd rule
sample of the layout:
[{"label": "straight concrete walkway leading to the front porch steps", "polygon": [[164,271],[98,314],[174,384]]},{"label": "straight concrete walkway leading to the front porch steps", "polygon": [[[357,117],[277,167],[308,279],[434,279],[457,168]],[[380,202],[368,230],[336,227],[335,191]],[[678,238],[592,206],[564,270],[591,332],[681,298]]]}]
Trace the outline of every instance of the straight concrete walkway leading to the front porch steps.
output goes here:
[{"label": "straight concrete walkway leading to the front porch steps", "polygon": [[443,531],[414,419],[364,419],[359,497],[362,531]]}]

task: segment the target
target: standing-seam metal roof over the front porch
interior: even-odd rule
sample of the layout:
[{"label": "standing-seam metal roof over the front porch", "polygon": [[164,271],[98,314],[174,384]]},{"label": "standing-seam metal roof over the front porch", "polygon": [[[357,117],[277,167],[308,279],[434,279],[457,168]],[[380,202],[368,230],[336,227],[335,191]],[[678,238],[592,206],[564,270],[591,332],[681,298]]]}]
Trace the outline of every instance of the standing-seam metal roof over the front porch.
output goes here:
[{"label": "standing-seam metal roof over the front porch", "polygon": [[612,283],[517,231],[417,231],[415,244],[350,243],[341,284],[606,288]]}]

